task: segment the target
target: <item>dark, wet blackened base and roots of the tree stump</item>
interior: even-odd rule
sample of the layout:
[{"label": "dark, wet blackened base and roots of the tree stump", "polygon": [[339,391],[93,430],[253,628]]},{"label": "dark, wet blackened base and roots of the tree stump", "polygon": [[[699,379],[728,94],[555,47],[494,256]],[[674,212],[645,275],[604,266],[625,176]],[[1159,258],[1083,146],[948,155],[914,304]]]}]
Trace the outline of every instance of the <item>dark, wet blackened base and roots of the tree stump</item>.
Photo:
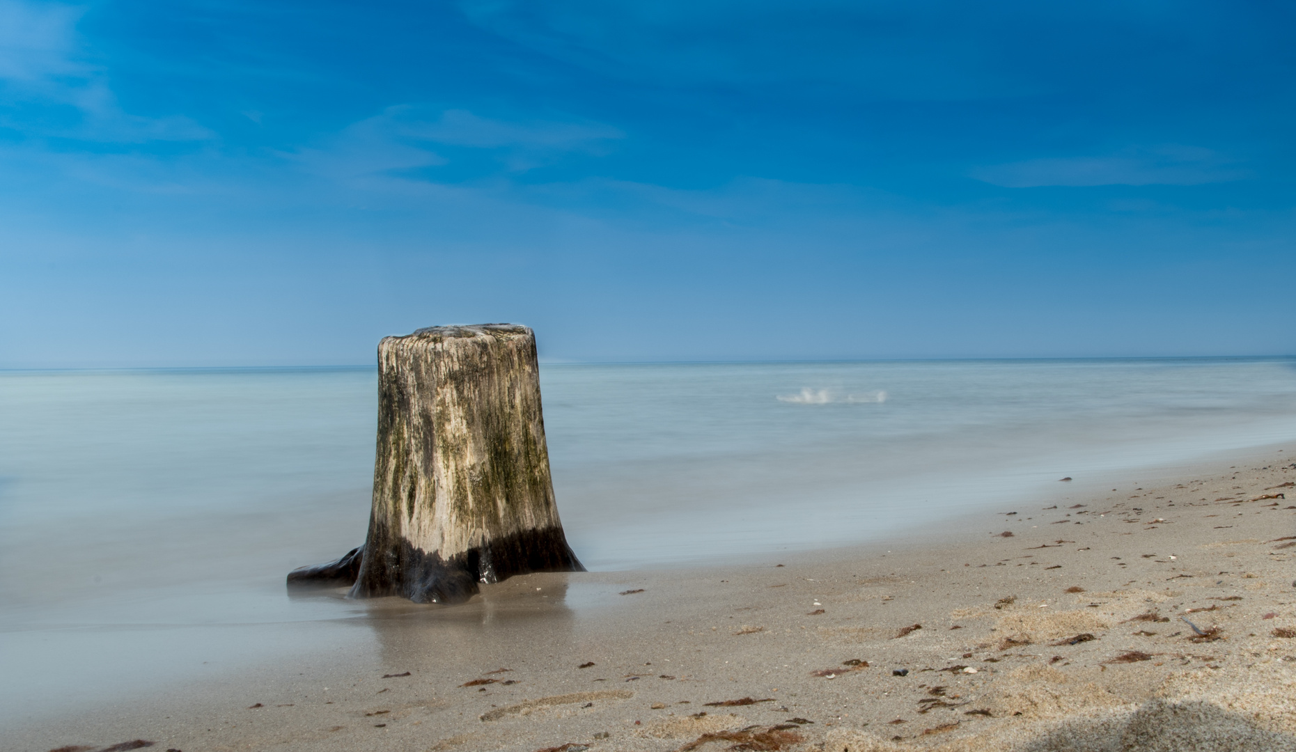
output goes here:
[{"label": "dark, wet blackened base and roots of the tree stump", "polygon": [[[478,583],[499,582],[531,572],[584,572],[561,528],[526,530],[486,542],[445,560],[400,541],[381,567],[362,567],[364,546],[337,561],[301,567],[288,574],[288,586],[345,587],[350,598],[399,595],[415,603],[463,603]],[[362,577],[362,570],[364,576]],[[391,577],[391,574],[395,577]]]}]

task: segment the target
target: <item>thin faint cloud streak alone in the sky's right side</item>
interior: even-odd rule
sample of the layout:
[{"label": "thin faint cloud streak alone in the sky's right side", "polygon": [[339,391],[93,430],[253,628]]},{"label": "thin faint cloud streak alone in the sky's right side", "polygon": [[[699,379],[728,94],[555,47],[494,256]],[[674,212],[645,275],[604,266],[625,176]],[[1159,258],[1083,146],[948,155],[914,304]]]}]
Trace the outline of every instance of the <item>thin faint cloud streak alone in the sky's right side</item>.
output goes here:
[{"label": "thin faint cloud streak alone in the sky's right side", "polygon": [[1201,185],[1249,175],[1235,162],[1199,147],[1133,148],[1099,157],[1045,157],[989,165],[971,176],[1006,188],[1045,185]]}]

